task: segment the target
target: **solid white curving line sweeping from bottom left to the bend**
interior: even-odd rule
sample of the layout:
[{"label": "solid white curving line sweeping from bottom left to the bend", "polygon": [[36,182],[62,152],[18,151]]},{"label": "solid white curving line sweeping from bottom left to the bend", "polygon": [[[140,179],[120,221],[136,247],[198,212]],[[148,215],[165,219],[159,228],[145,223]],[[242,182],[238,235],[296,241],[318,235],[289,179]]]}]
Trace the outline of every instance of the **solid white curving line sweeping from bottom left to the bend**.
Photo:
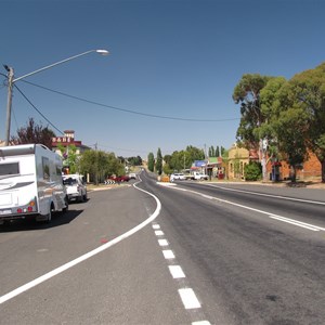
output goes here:
[{"label": "solid white curving line sweeping from bottom left to the bend", "polygon": [[0,297],[0,304],[3,303],[3,302],[5,302],[5,301],[8,301],[8,300],[10,300],[10,299],[12,299],[12,298],[14,298],[14,297],[16,297],[16,296],[18,296],[18,295],[21,295],[22,292],[27,291],[28,289],[30,289],[30,288],[32,288],[35,286],[43,283],[44,281],[47,281],[47,280],[49,280],[49,278],[51,278],[51,277],[53,277],[53,276],[55,276],[55,275],[57,275],[57,274],[66,271],[67,269],[70,269],[70,268],[75,266],[76,264],[81,263],[82,261],[84,261],[84,260],[93,257],[94,255],[98,255],[99,252],[101,252],[101,251],[103,251],[103,250],[105,250],[105,249],[114,246],[115,244],[117,244],[117,243],[119,243],[119,242],[128,238],[129,236],[133,235],[134,233],[136,233],[138,231],[140,231],[141,229],[143,229],[144,226],[146,226],[148,223],[153,222],[159,216],[159,213],[160,213],[161,203],[158,199],[158,197],[155,196],[154,194],[152,194],[152,193],[150,193],[147,191],[144,191],[144,190],[136,186],[138,183],[139,182],[134,183],[133,187],[136,188],[136,190],[139,190],[139,191],[142,191],[142,192],[148,194],[152,197],[154,197],[154,199],[156,200],[156,204],[157,204],[156,210],[154,211],[154,213],[148,219],[146,219],[142,223],[138,224],[133,229],[129,230],[125,234],[122,234],[122,235],[114,238],[113,240],[110,240],[110,242],[108,242],[108,243],[106,243],[106,244],[104,244],[104,245],[102,245],[102,246],[100,246],[100,247],[98,247],[98,248],[95,248],[95,249],[93,249],[93,250],[91,250],[91,251],[89,251],[89,252],[87,252],[87,253],[84,253],[84,255],[76,258],[75,260],[73,260],[70,262],[67,262],[67,263],[63,264],[62,266],[58,266],[58,268],[56,268],[56,269],[54,269],[54,270],[46,273],[44,275],[41,275],[41,276],[37,277],[36,280],[32,280],[32,281],[28,282],[27,284],[25,284],[25,285],[16,288],[16,289],[14,289],[14,290],[5,294],[3,296],[1,296]]}]

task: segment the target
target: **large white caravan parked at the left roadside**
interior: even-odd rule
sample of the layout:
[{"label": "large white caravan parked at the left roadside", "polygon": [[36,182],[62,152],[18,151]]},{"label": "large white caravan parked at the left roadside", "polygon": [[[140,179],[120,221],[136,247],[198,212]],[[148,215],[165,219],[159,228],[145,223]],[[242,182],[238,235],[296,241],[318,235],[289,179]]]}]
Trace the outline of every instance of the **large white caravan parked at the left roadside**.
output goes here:
[{"label": "large white caravan parked at the left roadside", "polygon": [[42,144],[0,147],[0,224],[27,218],[50,222],[52,212],[67,209],[58,154]]}]

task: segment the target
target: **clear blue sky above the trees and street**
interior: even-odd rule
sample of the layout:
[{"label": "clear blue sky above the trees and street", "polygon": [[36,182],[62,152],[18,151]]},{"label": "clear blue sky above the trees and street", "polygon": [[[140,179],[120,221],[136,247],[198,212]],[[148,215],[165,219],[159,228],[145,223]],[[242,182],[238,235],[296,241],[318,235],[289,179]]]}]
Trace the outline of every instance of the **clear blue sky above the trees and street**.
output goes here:
[{"label": "clear blue sky above the trees and street", "polygon": [[[92,49],[106,49],[16,82],[55,126],[118,156],[147,157],[235,142],[244,74],[287,79],[325,61],[322,0],[0,0],[0,73],[18,78]],[[0,76],[0,139],[6,88]],[[60,95],[42,88],[68,94]],[[79,100],[78,100],[79,99]],[[86,100],[86,101],[82,101]],[[133,113],[132,113],[133,112]],[[11,133],[32,117],[14,91]]]}]

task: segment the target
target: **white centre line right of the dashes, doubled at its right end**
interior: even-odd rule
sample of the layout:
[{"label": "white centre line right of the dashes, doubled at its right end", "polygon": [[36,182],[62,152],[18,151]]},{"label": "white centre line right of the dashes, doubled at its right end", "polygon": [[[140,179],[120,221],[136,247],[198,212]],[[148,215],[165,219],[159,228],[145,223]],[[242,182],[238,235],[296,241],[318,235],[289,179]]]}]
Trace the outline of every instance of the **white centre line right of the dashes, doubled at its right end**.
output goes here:
[{"label": "white centre line right of the dashes, doubled at its right end", "polygon": [[[172,190],[184,191],[184,188],[178,188],[178,187],[172,187]],[[202,197],[207,198],[206,194],[202,194],[202,193],[193,191],[193,190],[186,190],[186,192],[190,192],[190,193],[193,193],[193,194],[196,194],[196,195],[199,195]],[[208,198],[210,199],[210,197],[208,197]],[[280,220],[280,221],[283,221],[283,222],[288,222],[288,223],[291,223],[294,225],[306,227],[306,229],[309,229],[309,230],[312,230],[312,231],[325,231],[324,227],[321,227],[321,226],[317,226],[317,225],[314,225],[314,224],[301,222],[301,221],[298,221],[298,220],[295,220],[295,219],[290,219],[290,218],[286,218],[286,217],[282,217],[282,216],[277,216],[277,214],[273,214],[273,213],[270,213],[268,211],[263,211],[263,210],[260,210],[260,209],[255,209],[255,208],[251,208],[251,207],[248,207],[248,206],[239,205],[239,204],[236,204],[234,202],[222,199],[222,198],[219,198],[219,197],[216,197],[216,196],[213,196],[212,199],[216,199],[218,202],[225,203],[225,204],[229,204],[229,205],[232,205],[232,206],[235,206],[235,207],[239,207],[239,208],[243,208],[243,209],[247,209],[247,210],[250,210],[250,211],[255,211],[255,212],[258,212],[258,213],[261,213],[261,214],[266,214],[269,218],[276,219],[276,220]]]}]

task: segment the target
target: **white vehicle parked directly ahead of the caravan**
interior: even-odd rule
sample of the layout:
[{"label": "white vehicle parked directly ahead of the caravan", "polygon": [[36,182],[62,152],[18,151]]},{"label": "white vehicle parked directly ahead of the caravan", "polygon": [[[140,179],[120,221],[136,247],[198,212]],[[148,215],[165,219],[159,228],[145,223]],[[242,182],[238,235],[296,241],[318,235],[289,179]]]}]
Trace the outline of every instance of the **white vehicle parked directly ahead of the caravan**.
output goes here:
[{"label": "white vehicle parked directly ahead of the caravan", "polygon": [[63,184],[66,187],[66,193],[69,202],[87,200],[87,184],[82,176],[74,173],[74,174],[65,174],[62,178],[63,178]]}]

